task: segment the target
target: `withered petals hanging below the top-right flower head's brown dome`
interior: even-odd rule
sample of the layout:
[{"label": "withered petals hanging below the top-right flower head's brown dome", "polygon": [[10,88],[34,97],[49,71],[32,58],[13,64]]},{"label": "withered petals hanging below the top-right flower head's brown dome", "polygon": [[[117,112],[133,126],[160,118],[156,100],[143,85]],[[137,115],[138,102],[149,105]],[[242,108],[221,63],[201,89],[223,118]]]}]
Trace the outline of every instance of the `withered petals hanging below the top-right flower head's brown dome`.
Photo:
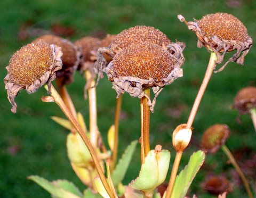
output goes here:
[{"label": "withered petals hanging below the top-right flower head's brown dome", "polygon": [[[236,53],[230,57],[230,59],[216,72],[222,71],[229,62],[236,62],[237,64],[244,64],[244,57],[249,52],[252,46],[252,38],[248,37],[245,42],[236,42],[235,40],[226,40],[221,39],[218,36],[211,37],[212,43],[209,42],[209,37],[202,36],[201,29],[198,27],[197,20],[194,19],[193,21],[187,22],[188,29],[195,32],[198,42],[197,47],[201,48],[205,46],[210,51],[216,53],[218,60],[216,61],[217,64],[223,62],[223,57],[228,51],[236,50]],[[223,52],[222,52],[223,51]],[[242,55],[241,55],[242,53]]]}]

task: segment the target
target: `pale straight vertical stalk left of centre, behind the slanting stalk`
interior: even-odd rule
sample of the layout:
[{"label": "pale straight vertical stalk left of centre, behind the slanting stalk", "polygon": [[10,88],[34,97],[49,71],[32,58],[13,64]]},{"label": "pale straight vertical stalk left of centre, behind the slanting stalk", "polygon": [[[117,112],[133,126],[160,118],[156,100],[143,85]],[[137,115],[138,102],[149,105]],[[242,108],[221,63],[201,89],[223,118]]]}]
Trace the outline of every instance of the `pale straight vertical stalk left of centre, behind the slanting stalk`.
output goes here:
[{"label": "pale straight vertical stalk left of centre, behind the slanting stalk", "polygon": [[90,80],[90,88],[88,89],[89,113],[90,113],[90,141],[94,148],[98,145],[99,131],[97,126],[97,98],[95,81],[92,79],[92,74],[89,70],[85,71],[85,78]]}]

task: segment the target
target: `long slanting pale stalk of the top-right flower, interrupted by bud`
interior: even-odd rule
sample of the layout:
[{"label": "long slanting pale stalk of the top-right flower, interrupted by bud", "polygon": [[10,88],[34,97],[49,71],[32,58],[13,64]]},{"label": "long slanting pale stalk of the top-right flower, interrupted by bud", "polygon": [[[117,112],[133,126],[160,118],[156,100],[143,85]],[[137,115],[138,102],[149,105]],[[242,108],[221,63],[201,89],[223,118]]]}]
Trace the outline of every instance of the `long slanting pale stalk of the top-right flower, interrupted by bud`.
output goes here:
[{"label": "long slanting pale stalk of the top-right flower, interrupted by bud", "polygon": [[[203,98],[205,89],[206,89],[206,87],[209,83],[209,80],[211,79],[213,70],[216,67],[215,61],[217,61],[217,56],[214,52],[212,52],[211,56],[210,56],[208,66],[207,66],[207,69],[206,69],[206,72],[205,72],[203,82],[202,82],[202,84],[201,84],[201,86],[198,90],[195,102],[193,104],[193,107],[192,107],[191,112],[190,112],[189,117],[188,117],[187,126],[186,126],[187,129],[190,129],[193,125],[193,122],[195,120],[199,104],[201,103],[201,100]],[[177,176],[177,171],[178,171],[178,168],[179,168],[182,153],[183,153],[183,151],[182,152],[180,151],[180,152],[176,153],[175,160],[174,160],[173,167],[172,167],[172,172],[171,172],[169,185],[168,185],[167,190],[166,190],[166,198],[169,198],[172,195],[172,190],[173,190],[173,186],[174,186],[175,179],[176,179],[176,176]]]}]

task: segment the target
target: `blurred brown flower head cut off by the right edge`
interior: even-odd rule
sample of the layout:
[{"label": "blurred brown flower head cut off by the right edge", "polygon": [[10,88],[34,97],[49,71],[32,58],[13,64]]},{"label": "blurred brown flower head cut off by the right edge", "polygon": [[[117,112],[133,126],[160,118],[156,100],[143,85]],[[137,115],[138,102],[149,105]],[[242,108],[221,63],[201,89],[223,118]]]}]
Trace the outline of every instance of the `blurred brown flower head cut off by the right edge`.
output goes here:
[{"label": "blurred brown flower head cut off by the right edge", "polygon": [[233,107],[241,114],[256,107],[256,87],[245,87],[236,94]]}]

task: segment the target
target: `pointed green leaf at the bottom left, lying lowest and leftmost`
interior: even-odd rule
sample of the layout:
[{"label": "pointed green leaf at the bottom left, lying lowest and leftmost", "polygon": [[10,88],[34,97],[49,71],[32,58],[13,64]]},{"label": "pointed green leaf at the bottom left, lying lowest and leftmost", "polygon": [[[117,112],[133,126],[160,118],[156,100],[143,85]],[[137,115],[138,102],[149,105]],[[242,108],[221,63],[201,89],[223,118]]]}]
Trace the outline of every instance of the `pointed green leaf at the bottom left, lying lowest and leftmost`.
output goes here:
[{"label": "pointed green leaf at the bottom left, lying lowest and leftmost", "polygon": [[48,180],[44,179],[43,177],[39,176],[29,176],[28,179],[33,180],[35,183],[37,183],[39,186],[43,187],[46,191],[51,193],[54,197],[58,198],[79,198],[81,196],[77,196],[76,194],[73,194],[67,189],[64,189],[54,183],[49,182]]}]

